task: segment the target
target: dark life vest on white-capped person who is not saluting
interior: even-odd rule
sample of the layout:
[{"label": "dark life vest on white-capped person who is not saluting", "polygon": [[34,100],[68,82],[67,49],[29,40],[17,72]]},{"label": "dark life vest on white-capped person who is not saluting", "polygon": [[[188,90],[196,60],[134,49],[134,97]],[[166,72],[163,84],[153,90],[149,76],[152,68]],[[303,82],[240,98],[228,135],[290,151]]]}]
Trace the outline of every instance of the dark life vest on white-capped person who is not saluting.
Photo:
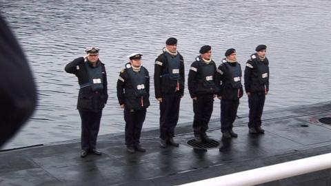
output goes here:
[{"label": "dark life vest on white-capped person who is not saluting", "polygon": [[[139,72],[134,72],[130,63],[126,64],[129,79],[133,85],[134,95],[137,97],[146,96],[146,70],[141,66]],[[128,91],[128,90],[126,90]]]}]

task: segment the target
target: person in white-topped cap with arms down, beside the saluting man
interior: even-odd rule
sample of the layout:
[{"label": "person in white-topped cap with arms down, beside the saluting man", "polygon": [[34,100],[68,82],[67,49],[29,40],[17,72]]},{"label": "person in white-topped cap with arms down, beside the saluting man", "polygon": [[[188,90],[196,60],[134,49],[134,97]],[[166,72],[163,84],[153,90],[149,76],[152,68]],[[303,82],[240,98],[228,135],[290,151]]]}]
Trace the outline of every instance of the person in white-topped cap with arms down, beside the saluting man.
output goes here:
[{"label": "person in white-topped cap with arms down, beside the saluting man", "polygon": [[117,80],[117,99],[124,109],[126,121],[126,147],[130,154],[146,152],[140,145],[141,128],[150,106],[150,75],[141,65],[140,53],[128,55],[129,63],[119,73]]}]

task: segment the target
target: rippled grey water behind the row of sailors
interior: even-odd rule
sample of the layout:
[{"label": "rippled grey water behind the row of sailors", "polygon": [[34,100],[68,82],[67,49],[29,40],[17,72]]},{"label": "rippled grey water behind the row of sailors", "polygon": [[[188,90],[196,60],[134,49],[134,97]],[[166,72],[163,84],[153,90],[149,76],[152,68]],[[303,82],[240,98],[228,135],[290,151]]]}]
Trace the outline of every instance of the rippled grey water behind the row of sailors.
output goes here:
[{"label": "rippled grey water behind the row of sailors", "polygon": [[[30,61],[39,105],[21,132],[4,148],[80,136],[78,84],[64,72],[66,63],[97,45],[106,63],[110,99],[100,134],[123,132],[123,111],[116,96],[119,71],[131,52],[143,53],[154,73],[154,59],[168,37],[179,40],[185,72],[201,45],[212,45],[219,65],[228,48],[236,48],[242,68],[258,44],[268,45],[270,94],[265,110],[330,101],[331,1],[4,1],[0,12]],[[159,105],[151,81],[151,106],[143,130],[159,125]],[[219,117],[219,101],[213,118]],[[248,113],[247,96],[239,114]],[[192,121],[188,91],[181,102],[180,123]]]}]

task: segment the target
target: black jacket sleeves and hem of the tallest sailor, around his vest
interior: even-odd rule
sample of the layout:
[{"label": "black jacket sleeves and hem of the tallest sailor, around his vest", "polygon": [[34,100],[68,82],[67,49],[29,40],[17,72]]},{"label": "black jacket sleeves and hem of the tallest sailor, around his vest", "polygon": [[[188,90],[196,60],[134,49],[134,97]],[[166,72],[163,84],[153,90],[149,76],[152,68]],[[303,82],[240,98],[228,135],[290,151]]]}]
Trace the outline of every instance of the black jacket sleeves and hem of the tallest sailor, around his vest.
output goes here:
[{"label": "black jacket sleeves and hem of the tallest sailor, around his vest", "polygon": [[[163,49],[163,51],[165,51]],[[179,92],[181,96],[184,95],[184,84],[185,84],[185,70],[184,70],[184,59],[179,52],[180,67],[179,67]],[[169,74],[168,72],[168,60],[164,52],[160,54],[157,59],[155,59],[154,65],[154,88],[155,88],[155,97],[161,98],[164,94],[174,93],[177,86],[177,81],[171,81],[168,77],[162,77],[163,74]]]}]

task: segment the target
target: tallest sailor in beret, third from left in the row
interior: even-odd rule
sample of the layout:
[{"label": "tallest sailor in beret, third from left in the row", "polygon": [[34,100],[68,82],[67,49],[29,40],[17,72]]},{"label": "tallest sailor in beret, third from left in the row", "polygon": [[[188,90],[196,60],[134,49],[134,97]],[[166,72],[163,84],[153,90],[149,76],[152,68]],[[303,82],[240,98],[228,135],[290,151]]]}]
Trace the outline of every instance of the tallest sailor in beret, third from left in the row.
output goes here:
[{"label": "tallest sailor in beret, third from left in the row", "polygon": [[183,56],[177,51],[177,39],[165,41],[163,52],[154,65],[155,97],[160,104],[160,145],[162,148],[174,142],[174,129],[179,119],[179,105],[184,95],[185,70]]}]

